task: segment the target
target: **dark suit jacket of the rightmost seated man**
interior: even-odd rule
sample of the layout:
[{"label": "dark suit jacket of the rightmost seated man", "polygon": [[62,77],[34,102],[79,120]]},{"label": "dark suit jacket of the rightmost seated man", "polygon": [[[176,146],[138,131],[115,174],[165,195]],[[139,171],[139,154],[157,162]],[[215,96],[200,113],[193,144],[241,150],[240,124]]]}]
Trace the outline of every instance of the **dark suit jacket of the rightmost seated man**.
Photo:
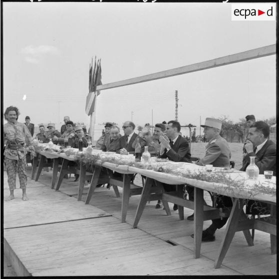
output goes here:
[{"label": "dark suit jacket of the rightmost seated man", "polygon": [[276,174],[276,145],[272,140],[267,139],[258,152],[246,154],[240,170],[246,170],[246,167],[250,163],[250,156],[255,156],[255,164],[259,168],[259,174],[263,174],[264,170],[273,170],[273,175]]}]

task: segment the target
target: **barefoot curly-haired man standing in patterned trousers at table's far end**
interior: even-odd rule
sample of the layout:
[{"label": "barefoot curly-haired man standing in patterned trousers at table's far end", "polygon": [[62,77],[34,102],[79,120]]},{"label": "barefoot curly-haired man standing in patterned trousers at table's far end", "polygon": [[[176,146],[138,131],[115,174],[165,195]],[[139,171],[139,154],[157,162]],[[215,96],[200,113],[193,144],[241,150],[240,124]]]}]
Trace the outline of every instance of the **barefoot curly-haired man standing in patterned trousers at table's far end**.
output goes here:
[{"label": "barefoot curly-haired man standing in patterned trousers at table's far end", "polygon": [[18,173],[20,188],[22,189],[22,199],[27,200],[26,195],[26,153],[30,151],[34,155],[32,136],[23,123],[17,122],[19,110],[15,106],[9,106],[4,112],[7,123],[3,126],[5,142],[5,164],[8,176],[9,196],[6,200],[14,198],[16,171]]}]

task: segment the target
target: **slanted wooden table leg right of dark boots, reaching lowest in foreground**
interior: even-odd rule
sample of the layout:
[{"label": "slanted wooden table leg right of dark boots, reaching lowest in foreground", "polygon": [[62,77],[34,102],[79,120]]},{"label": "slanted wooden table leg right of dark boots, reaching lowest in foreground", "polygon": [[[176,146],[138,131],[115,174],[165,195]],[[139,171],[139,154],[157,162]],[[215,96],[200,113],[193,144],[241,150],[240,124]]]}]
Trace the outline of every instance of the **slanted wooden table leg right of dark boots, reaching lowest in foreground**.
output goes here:
[{"label": "slanted wooden table leg right of dark boots, reaching lowest in foreground", "polygon": [[231,243],[231,240],[234,236],[234,233],[236,231],[237,225],[238,225],[238,220],[239,220],[239,215],[241,211],[243,210],[243,200],[242,199],[237,199],[235,198],[233,201],[233,205],[229,214],[229,218],[226,224],[225,228],[225,234],[224,238],[221,242],[214,267],[219,268],[221,266],[221,263],[223,261],[223,258],[228,250],[228,247]]}]

